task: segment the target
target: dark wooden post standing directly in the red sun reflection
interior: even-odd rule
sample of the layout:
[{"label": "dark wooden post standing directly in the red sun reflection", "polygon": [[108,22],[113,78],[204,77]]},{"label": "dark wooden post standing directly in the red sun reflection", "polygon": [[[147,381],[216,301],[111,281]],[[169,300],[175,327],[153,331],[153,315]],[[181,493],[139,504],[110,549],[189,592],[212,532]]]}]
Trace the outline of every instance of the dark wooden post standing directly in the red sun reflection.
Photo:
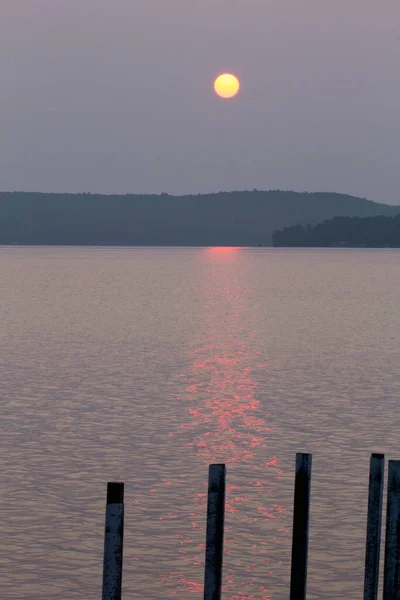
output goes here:
[{"label": "dark wooden post standing directly in the red sun reflection", "polygon": [[225,465],[210,465],[208,472],[206,564],[204,600],[220,600],[224,547]]}]

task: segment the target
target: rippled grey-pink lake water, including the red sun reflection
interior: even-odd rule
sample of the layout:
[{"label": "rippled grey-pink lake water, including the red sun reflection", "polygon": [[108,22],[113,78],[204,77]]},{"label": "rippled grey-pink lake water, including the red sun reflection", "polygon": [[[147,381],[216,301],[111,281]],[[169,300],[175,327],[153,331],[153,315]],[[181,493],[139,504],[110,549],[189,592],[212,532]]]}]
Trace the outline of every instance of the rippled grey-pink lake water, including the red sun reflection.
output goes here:
[{"label": "rippled grey-pink lake water, including the red sun reflection", "polygon": [[227,464],[224,598],[288,597],[313,453],[310,599],[362,595],[369,456],[400,459],[400,251],[0,248],[1,598],[201,598]]}]

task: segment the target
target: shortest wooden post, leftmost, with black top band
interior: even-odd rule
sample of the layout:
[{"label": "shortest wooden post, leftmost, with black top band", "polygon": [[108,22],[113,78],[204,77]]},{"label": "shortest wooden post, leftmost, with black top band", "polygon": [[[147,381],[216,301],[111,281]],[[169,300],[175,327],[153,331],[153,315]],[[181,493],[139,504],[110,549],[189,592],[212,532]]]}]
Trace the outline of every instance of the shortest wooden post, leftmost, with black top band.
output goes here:
[{"label": "shortest wooden post, leftmost, with black top band", "polygon": [[121,600],[124,545],[124,484],[107,484],[103,600]]}]

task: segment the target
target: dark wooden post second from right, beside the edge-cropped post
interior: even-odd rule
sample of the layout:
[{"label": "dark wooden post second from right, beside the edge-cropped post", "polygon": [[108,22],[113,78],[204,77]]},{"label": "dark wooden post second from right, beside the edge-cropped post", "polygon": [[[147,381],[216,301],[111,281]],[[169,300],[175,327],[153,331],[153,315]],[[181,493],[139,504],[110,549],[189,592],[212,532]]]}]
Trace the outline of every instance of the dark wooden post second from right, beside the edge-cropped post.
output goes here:
[{"label": "dark wooden post second from right, beside the edge-cropped post", "polygon": [[377,600],[378,598],[384,471],[385,455],[372,454],[369,466],[364,600]]}]

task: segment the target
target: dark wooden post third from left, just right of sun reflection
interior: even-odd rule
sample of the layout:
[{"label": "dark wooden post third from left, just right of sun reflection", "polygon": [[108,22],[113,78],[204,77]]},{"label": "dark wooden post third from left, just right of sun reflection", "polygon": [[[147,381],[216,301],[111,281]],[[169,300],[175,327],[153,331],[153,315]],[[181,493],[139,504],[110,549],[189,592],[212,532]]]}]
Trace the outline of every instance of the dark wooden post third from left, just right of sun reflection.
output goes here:
[{"label": "dark wooden post third from left, just right of sun reflection", "polygon": [[306,598],[311,464],[311,454],[296,454],[290,600]]}]

